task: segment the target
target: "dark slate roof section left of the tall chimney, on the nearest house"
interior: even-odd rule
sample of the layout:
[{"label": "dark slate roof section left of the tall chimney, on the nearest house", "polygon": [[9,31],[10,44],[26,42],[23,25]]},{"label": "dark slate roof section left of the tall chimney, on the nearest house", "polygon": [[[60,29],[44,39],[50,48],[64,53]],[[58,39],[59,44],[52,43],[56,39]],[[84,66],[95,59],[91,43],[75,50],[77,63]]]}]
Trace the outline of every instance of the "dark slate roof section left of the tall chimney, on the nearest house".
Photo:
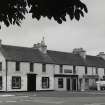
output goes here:
[{"label": "dark slate roof section left of the tall chimney, on the nearest house", "polygon": [[38,49],[2,45],[2,52],[7,60],[36,62],[36,63],[54,63],[46,54],[42,54]]}]

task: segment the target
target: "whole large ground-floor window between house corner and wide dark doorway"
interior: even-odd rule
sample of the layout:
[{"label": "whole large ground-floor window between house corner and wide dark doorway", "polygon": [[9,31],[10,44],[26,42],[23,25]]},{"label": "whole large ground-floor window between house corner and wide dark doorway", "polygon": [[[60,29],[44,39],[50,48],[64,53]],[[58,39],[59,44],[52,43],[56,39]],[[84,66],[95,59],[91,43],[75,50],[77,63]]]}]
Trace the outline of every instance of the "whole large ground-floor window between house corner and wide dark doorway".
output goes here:
[{"label": "whole large ground-floor window between house corner and wide dark doorway", "polygon": [[12,89],[21,89],[21,77],[12,77]]}]

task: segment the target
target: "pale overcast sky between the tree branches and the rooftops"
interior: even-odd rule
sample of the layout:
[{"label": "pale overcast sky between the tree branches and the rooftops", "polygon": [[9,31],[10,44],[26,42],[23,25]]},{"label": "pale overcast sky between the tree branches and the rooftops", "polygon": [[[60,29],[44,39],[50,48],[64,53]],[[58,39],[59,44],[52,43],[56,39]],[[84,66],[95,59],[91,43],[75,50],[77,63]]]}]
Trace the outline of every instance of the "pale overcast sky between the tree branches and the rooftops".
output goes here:
[{"label": "pale overcast sky between the tree branches and the rooftops", "polygon": [[82,0],[88,7],[88,14],[80,21],[67,21],[58,24],[54,20],[31,19],[30,15],[21,27],[3,26],[0,39],[3,44],[32,47],[45,37],[49,50],[72,52],[74,48],[83,48],[88,55],[105,52],[105,0]]}]

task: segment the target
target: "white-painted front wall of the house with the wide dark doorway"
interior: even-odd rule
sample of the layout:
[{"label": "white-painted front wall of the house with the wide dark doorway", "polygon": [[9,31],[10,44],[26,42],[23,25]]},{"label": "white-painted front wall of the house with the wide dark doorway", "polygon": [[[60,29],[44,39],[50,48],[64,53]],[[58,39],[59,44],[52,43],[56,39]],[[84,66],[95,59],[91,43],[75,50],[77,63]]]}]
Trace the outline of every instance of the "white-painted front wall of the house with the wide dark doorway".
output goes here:
[{"label": "white-painted front wall of the house with the wide dark doorway", "polygon": [[[21,62],[20,71],[16,71],[15,62],[8,62],[8,91],[27,91],[27,74],[34,73],[36,76],[36,90],[54,90],[54,65],[46,64],[46,72],[42,72],[42,64],[34,63],[34,71],[30,72],[30,63]],[[21,89],[12,89],[12,76],[21,76]],[[42,77],[49,77],[49,89],[42,89]]]}]

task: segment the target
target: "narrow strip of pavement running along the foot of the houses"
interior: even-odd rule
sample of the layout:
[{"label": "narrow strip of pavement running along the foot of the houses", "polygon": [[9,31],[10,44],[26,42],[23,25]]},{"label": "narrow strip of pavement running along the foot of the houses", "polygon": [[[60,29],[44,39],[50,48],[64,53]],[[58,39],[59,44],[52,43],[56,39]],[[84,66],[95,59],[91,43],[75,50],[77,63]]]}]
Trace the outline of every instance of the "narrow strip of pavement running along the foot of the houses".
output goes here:
[{"label": "narrow strip of pavement running along the foot of the houses", "polygon": [[39,91],[39,92],[1,92],[0,97],[10,96],[36,96],[36,97],[89,97],[105,96],[105,91]]}]

